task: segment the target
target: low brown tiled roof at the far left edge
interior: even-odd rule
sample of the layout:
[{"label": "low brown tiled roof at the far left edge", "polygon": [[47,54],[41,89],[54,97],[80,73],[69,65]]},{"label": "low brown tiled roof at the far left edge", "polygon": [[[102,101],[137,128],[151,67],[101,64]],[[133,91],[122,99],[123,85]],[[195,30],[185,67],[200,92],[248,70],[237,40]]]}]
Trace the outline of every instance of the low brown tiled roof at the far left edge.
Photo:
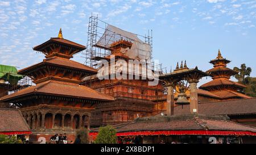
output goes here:
[{"label": "low brown tiled roof at the far left edge", "polygon": [[0,108],[0,132],[30,131],[22,113],[14,108]]}]

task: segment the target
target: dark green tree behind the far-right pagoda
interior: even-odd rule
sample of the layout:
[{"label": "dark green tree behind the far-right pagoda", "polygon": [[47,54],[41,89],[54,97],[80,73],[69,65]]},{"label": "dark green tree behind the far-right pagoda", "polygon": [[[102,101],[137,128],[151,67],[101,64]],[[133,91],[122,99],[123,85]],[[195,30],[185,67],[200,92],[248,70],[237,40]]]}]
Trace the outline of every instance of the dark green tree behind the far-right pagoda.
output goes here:
[{"label": "dark green tree behind the far-right pagoda", "polygon": [[238,72],[238,74],[234,75],[238,82],[242,83],[243,85],[246,85],[249,82],[251,68],[247,68],[245,64],[242,64],[241,68],[234,67],[233,70]]}]

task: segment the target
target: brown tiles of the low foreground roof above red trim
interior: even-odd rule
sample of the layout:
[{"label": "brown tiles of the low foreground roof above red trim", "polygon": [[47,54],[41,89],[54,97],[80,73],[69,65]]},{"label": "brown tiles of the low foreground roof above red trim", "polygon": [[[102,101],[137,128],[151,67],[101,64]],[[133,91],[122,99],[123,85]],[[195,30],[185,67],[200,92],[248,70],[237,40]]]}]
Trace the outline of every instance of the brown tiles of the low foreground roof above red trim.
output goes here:
[{"label": "brown tiles of the low foreground roof above red trim", "polygon": [[[180,115],[138,118],[134,122],[114,125],[117,132],[138,131],[250,131],[256,128],[234,123],[224,116]],[[98,128],[92,132],[97,132]]]}]

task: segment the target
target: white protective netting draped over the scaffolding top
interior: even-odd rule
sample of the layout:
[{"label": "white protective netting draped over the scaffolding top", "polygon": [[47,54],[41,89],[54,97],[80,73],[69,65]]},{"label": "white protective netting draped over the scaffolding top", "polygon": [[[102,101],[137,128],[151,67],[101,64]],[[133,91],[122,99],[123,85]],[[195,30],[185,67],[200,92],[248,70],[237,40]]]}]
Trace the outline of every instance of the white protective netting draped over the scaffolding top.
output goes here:
[{"label": "white protective netting draped over the scaffolding top", "polygon": [[118,40],[127,40],[133,43],[131,48],[123,48],[121,52],[131,59],[137,60],[150,60],[151,47],[149,44],[144,43],[137,35],[131,32],[121,30],[110,24],[106,27],[105,32],[98,40],[96,45],[99,47],[109,48],[110,44]]}]

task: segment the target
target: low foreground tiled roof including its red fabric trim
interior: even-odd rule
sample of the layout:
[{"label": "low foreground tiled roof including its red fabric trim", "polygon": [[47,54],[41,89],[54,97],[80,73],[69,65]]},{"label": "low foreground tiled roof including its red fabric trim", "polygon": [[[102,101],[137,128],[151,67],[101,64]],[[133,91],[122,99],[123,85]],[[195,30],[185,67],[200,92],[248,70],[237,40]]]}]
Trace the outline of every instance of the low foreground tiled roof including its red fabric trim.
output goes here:
[{"label": "low foreground tiled roof including its red fabric trim", "polygon": [[[236,135],[256,136],[256,128],[232,122],[225,116],[152,116],[114,125],[117,136],[136,135]],[[98,129],[91,131],[98,132]],[[92,135],[91,133],[91,135]]]}]

